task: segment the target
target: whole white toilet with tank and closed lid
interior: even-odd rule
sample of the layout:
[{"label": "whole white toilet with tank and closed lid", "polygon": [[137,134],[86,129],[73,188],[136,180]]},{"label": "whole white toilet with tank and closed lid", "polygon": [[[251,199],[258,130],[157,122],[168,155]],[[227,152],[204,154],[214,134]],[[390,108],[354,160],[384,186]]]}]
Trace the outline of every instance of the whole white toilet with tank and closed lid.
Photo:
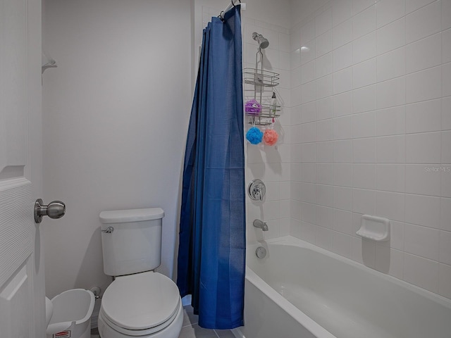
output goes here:
[{"label": "whole white toilet with tank and closed lid", "polygon": [[114,277],[101,300],[102,338],[178,338],[183,306],[161,263],[161,208],[102,211],[104,273]]}]

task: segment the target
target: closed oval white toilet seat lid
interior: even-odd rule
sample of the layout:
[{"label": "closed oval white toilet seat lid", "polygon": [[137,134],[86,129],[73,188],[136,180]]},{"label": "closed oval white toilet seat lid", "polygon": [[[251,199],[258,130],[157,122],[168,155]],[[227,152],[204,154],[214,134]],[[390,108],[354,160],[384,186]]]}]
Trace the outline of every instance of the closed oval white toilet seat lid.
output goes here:
[{"label": "closed oval white toilet seat lid", "polygon": [[118,277],[106,288],[102,312],[119,327],[144,330],[171,319],[178,310],[178,287],[152,271]]}]

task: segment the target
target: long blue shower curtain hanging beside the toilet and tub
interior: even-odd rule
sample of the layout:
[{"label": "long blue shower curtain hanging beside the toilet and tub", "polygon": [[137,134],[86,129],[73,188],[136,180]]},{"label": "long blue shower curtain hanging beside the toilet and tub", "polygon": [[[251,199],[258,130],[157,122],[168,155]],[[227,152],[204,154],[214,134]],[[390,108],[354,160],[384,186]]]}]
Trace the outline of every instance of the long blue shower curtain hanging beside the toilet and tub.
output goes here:
[{"label": "long blue shower curtain hanging beside the toilet and tub", "polygon": [[177,284],[199,325],[243,325],[245,166],[240,6],[204,29],[188,127]]}]

